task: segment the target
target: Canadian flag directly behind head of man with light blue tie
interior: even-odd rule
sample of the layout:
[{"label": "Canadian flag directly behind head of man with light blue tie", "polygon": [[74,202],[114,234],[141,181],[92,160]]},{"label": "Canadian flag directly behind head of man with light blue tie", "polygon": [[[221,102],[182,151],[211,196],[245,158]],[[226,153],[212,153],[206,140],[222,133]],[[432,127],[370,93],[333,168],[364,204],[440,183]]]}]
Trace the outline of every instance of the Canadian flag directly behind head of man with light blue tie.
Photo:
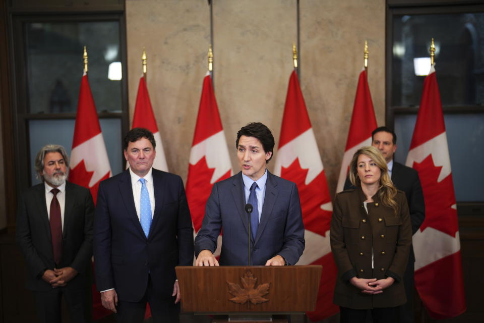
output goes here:
[{"label": "Canadian flag directly behind head of man with light blue tie", "polygon": [[[146,86],[145,78],[140,78],[140,85],[138,87],[138,95],[136,96],[135,113],[133,115],[132,128],[145,128],[153,133],[156,142],[156,157],[153,161],[153,168],[168,172],[166,165],[165,152],[163,150],[163,143],[161,135],[156,125],[155,115],[153,114],[153,107],[151,106],[150,94]],[[128,168],[129,164],[127,164]]]}]

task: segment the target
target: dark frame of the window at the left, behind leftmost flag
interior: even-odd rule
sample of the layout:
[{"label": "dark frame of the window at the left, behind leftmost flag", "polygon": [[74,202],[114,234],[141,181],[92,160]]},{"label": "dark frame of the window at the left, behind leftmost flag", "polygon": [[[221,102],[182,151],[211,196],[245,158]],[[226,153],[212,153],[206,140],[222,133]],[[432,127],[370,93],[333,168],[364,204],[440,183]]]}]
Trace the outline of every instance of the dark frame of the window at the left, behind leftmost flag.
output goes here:
[{"label": "dark frame of the window at the left, behind leftmost flag", "polygon": [[[15,163],[15,173],[17,178],[17,193],[32,185],[30,172],[23,170],[32,169],[30,165],[29,151],[29,132],[28,123],[30,120],[59,120],[59,119],[76,119],[75,113],[65,114],[48,114],[48,113],[29,113],[28,109],[28,80],[27,80],[27,59],[26,43],[24,35],[24,25],[27,22],[90,22],[90,21],[116,21],[119,24],[119,47],[120,60],[122,62],[123,79],[121,83],[121,104],[122,112],[98,113],[99,119],[116,118],[121,120],[122,131],[124,134],[129,130],[129,106],[128,106],[128,68],[127,68],[127,37],[126,37],[126,18],[124,11],[110,12],[40,12],[40,13],[14,13],[11,16],[11,33],[10,43],[12,67],[12,117],[14,128],[14,156],[17,160]],[[16,40],[16,41],[15,41]],[[89,53],[89,52],[88,52]],[[82,49],[79,52],[79,78],[82,72]],[[75,73],[75,71],[73,71]],[[123,138],[119,138],[122,142]],[[26,156],[26,158],[20,158]],[[119,156],[123,158],[123,156]]]}]

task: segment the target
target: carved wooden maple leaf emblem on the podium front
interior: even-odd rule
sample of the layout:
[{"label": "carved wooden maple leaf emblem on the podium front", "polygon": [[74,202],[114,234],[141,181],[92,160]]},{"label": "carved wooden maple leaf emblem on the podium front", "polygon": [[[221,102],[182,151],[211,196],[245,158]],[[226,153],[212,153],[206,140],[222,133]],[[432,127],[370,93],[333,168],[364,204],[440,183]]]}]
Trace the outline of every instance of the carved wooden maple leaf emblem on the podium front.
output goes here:
[{"label": "carved wooden maple leaf emblem on the podium front", "polygon": [[269,293],[270,283],[260,284],[257,288],[254,288],[257,282],[257,278],[248,271],[243,277],[240,277],[242,286],[227,282],[228,291],[235,297],[229,298],[232,302],[245,304],[250,301],[252,304],[260,304],[267,302],[268,299],[262,296]]}]

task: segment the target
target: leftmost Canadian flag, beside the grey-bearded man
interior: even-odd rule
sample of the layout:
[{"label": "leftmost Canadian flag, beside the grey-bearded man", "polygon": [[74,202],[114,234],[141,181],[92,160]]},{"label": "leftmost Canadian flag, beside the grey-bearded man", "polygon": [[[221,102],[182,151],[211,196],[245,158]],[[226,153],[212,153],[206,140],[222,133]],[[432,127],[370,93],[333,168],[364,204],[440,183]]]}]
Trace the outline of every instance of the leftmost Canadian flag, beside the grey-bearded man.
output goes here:
[{"label": "leftmost Canadian flag, beside the grey-bearded man", "polygon": [[[92,98],[87,74],[81,79],[79,102],[77,105],[76,125],[71,151],[71,170],[69,180],[91,190],[94,204],[97,199],[99,183],[111,176],[106,146],[97,118],[96,106]],[[94,264],[93,264],[94,266]],[[111,311],[101,304],[101,296],[92,286],[93,319],[109,315]]]}]

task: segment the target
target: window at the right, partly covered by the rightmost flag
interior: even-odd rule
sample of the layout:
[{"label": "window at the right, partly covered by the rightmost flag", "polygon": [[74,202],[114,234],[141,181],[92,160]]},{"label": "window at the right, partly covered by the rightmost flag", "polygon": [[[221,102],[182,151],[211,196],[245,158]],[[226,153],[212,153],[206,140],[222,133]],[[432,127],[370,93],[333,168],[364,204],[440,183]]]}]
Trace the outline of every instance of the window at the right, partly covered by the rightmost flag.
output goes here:
[{"label": "window at the right, partly covered by the rightmost flag", "polygon": [[[394,126],[398,138],[395,160],[405,163],[407,157],[434,38],[457,204],[481,205],[484,7],[399,7],[388,3],[386,123]],[[477,212],[480,214],[482,208]]]}]

